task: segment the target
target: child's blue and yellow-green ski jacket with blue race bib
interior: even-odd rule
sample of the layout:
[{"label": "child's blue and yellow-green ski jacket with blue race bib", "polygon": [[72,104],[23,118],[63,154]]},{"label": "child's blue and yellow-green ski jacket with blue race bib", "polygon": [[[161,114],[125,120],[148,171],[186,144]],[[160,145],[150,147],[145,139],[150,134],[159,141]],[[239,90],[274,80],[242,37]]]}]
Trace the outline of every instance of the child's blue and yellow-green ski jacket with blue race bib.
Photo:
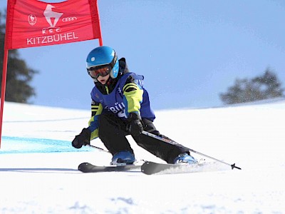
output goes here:
[{"label": "child's blue and yellow-green ski jacket with blue race bib", "polygon": [[155,120],[148,93],[143,88],[143,76],[128,71],[125,58],[120,58],[119,63],[117,78],[109,78],[105,85],[96,82],[91,91],[92,116],[88,122],[88,129],[91,131],[90,140],[98,137],[98,117],[102,113],[113,113],[127,120],[130,112],[137,112],[141,118]]}]

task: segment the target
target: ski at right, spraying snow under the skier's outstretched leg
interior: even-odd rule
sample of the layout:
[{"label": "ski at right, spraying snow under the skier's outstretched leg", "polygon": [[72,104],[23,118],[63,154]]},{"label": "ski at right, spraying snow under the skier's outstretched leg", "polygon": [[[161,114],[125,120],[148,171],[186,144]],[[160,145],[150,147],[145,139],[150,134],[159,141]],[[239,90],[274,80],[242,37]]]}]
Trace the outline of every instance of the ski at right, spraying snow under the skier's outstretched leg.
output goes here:
[{"label": "ski at right, spraying snow under the skier's outstretched leg", "polygon": [[194,173],[197,172],[195,168],[199,164],[170,164],[170,163],[155,163],[151,161],[146,161],[142,164],[141,171],[146,175],[152,175],[155,173]]}]

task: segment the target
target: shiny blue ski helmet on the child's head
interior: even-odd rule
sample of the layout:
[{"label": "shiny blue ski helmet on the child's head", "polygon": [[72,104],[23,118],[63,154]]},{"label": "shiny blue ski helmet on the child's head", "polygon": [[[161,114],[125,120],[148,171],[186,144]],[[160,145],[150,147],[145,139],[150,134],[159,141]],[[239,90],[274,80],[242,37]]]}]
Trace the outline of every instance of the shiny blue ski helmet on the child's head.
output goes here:
[{"label": "shiny blue ski helmet on the child's head", "polygon": [[[90,70],[94,70],[96,67],[110,66],[110,77],[116,78],[119,73],[119,61],[118,56],[115,54],[115,50],[108,46],[99,46],[98,48],[90,51],[86,58],[86,68],[90,75]],[[91,75],[90,75],[91,76]],[[91,76],[93,81],[97,82],[97,78]]]}]

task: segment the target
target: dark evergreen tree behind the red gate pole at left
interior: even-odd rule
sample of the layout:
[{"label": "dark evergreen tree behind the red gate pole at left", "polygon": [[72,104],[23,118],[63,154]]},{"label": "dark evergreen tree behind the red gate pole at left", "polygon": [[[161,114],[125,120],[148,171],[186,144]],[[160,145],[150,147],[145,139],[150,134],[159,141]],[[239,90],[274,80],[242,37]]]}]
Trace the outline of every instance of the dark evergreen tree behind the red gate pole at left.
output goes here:
[{"label": "dark evergreen tree behind the red gate pole at left", "polygon": [[[0,78],[3,72],[5,17],[6,15],[0,11]],[[9,50],[5,101],[28,103],[29,98],[36,96],[34,89],[29,85],[35,73],[38,72],[28,68],[26,62],[19,57],[18,50]]]}]

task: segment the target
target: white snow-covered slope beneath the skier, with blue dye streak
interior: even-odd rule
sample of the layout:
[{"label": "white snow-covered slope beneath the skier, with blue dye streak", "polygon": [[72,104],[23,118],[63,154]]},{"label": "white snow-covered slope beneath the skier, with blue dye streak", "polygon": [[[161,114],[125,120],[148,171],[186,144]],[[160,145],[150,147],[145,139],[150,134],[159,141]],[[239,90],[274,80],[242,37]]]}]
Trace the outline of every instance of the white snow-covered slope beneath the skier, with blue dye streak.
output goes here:
[{"label": "white snow-covered slope beneath the skier, with blue dye streak", "polygon": [[[284,99],[156,114],[161,133],[242,170],[81,173],[111,158],[71,146],[90,111],[5,103],[0,213],[285,213]],[[138,160],[163,162],[129,139]]]}]

